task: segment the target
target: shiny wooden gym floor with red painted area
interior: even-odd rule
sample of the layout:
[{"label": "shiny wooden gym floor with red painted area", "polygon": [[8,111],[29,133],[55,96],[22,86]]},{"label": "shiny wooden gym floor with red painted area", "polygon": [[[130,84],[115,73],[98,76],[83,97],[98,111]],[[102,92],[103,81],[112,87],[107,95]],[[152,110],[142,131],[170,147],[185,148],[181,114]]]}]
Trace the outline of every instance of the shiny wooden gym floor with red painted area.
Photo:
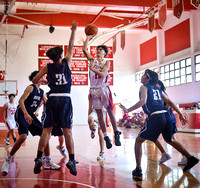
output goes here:
[{"label": "shiny wooden gym floor with red painted area", "polygon": [[[108,129],[113,140],[113,132]],[[193,167],[190,172],[182,171],[177,162],[181,154],[161,141],[172,159],[160,165],[158,160],[161,155],[152,142],[143,144],[142,170],[143,177],[132,177],[135,168],[134,143],[139,129],[121,128],[121,147],[113,147],[105,151],[106,160],[97,162],[99,153],[98,135],[90,138],[88,126],[74,126],[73,135],[75,141],[75,153],[77,164],[77,176],[72,176],[65,164],[68,158],[63,158],[56,149],[58,138],[50,140],[51,156],[55,163],[61,165],[58,171],[42,170],[39,175],[33,173],[34,158],[37,153],[39,137],[28,136],[24,146],[16,153],[10,165],[9,173],[0,173],[0,188],[198,188],[200,187],[200,163]],[[0,166],[9,154],[13,143],[6,146],[4,143],[6,131],[0,130]],[[177,133],[179,140],[194,156],[200,158],[200,134]],[[12,139],[10,139],[12,140]],[[12,141],[11,141],[12,142]]]}]

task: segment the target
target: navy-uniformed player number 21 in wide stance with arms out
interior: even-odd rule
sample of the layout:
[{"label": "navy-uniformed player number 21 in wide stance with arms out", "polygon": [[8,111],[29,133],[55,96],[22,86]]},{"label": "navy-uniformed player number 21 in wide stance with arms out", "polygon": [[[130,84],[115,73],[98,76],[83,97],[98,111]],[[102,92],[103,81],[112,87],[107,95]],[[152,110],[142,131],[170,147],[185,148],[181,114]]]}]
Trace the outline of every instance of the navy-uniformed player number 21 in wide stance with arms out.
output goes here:
[{"label": "navy-uniformed player number 21 in wide stance with arms out", "polygon": [[142,107],[144,112],[148,115],[146,124],[141,129],[135,142],[136,168],[132,171],[132,175],[134,176],[142,176],[142,143],[145,140],[156,142],[161,133],[168,144],[187,157],[187,165],[183,168],[183,171],[191,169],[199,162],[199,159],[192,156],[178,141],[172,140],[171,117],[167,112],[164,102],[179,114],[181,121],[186,123],[187,120],[167,95],[156,86],[157,82],[158,74],[147,69],[141,78],[141,83],[143,85],[140,87],[140,100],[128,109],[120,104],[120,107],[126,113]]}]

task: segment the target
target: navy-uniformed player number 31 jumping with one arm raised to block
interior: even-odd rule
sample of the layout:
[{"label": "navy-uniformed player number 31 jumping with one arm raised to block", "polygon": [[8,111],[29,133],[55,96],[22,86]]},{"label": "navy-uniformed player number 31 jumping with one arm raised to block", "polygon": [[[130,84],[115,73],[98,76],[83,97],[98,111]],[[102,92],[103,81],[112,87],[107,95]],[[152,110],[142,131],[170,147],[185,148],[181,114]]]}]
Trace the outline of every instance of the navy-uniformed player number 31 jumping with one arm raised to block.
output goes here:
[{"label": "navy-uniformed player number 31 jumping with one arm raised to block", "polygon": [[72,103],[71,92],[71,70],[72,51],[75,40],[75,31],[77,23],[72,22],[71,36],[66,56],[62,59],[63,49],[61,47],[51,48],[46,55],[53,60],[44,66],[33,79],[33,83],[47,74],[48,86],[50,87],[49,98],[46,103],[46,119],[44,120],[44,129],[40,138],[37,158],[35,159],[34,173],[39,174],[42,166],[42,154],[53,127],[61,127],[65,137],[66,147],[69,153],[69,161],[66,164],[70,173],[77,175],[76,161],[74,157],[74,141],[72,137]]}]

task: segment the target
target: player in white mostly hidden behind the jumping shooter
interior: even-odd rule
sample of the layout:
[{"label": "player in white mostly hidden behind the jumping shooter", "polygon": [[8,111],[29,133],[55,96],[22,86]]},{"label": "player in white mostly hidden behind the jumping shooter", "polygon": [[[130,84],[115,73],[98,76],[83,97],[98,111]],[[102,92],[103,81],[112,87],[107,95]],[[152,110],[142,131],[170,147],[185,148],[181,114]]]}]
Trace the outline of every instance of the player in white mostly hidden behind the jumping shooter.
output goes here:
[{"label": "player in white mostly hidden behind the jumping shooter", "polygon": [[[104,140],[103,140],[103,134],[101,131],[101,127],[99,125],[97,113],[95,109],[92,107],[92,98],[91,95],[88,95],[88,101],[89,101],[89,108],[88,108],[88,125],[91,130],[91,138],[93,139],[95,137],[95,132],[98,129],[98,135],[99,135],[99,145],[100,145],[100,152],[99,156],[97,157],[98,161],[103,161],[105,160],[105,154],[104,154]],[[103,107],[102,109],[103,112],[103,118],[104,122],[106,122],[106,109]]]}]

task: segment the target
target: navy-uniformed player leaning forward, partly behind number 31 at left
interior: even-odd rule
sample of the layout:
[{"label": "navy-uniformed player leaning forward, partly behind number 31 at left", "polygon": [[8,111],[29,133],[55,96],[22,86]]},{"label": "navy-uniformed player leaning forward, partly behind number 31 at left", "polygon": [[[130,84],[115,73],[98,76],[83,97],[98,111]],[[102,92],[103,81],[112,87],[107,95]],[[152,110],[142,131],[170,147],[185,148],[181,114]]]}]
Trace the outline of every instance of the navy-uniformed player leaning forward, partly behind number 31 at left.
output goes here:
[{"label": "navy-uniformed player leaning forward, partly behind number 31 at left", "polygon": [[[39,71],[32,72],[29,76],[29,80],[32,81],[32,79],[38,72]],[[40,89],[41,82],[43,82],[43,79],[40,79],[37,84],[29,85],[25,89],[23,95],[19,100],[19,106],[15,113],[15,120],[18,124],[19,139],[15,142],[9,156],[7,157],[6,161],[4,162],[1,168],[1,171],[5,174],[8,173],[12,157],[19,150],[23,142],[26,140],[29,131],[33,136],[40,136],[42,134],[42,125],[34,115],[34,112],[37,110],[41,101],[45,100],[45,98],[43,97],[44,91]],[[45,148],[45,155],[48,156],[50,159],[49,144]],[[60,168],[60,166],[54,164],[52,160],[48,160],[47,163],[45,163],[45,168],[47,169],[49,169],[49,167],[52,165],[56,169]]]}]

